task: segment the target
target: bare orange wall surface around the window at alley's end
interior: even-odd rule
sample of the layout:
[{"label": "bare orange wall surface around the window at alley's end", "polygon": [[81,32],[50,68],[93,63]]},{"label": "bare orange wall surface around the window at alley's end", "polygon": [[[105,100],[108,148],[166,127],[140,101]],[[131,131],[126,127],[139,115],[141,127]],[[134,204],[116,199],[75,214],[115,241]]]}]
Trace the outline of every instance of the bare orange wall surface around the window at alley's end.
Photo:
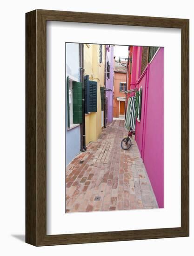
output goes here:
[{"label": "bare orange wall surface around the window at alley's end", "polygon": [[125,93],[120,92],[120,82],[126,83],[126,74],[114,72],[113,117],[119,117],[119,101],[116,97],[125,97]]}]

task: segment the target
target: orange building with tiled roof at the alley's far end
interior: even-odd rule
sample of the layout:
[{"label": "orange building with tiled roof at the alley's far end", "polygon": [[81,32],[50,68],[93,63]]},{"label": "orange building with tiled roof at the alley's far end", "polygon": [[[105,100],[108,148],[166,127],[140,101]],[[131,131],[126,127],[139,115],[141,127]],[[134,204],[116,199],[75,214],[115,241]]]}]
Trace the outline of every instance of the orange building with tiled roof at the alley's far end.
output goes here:
[{"label": "orange building with tiled roof at the alley's far end", "polygon": [[127,90],[127,62],[114,61],[114,95],[113,95],[113,117],[125,117]]}]

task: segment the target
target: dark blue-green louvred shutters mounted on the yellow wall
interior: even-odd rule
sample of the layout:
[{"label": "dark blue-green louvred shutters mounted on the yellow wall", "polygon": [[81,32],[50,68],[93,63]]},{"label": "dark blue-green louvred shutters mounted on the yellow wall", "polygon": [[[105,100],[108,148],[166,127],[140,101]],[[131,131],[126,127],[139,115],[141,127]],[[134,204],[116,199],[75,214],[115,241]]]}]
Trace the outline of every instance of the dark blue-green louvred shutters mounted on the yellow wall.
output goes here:
[{"label": "dark blue-green louvred shutters mounted on the yellow wall", "polygon": [[89,76],[85,76],[84,81],[85,114],[97,112],[97,82],[90,81]]}]

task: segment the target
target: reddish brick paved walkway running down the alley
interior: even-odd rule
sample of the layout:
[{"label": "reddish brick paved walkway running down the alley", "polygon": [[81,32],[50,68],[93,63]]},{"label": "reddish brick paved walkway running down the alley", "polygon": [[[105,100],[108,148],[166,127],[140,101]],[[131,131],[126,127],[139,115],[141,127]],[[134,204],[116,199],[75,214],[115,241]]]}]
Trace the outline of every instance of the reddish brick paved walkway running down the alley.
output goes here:
[{"label": "reddish brick paved walkway running down the alley", "polygon": [[114,120],[66,170],[66,212],[158,208],[136,142],[123,150],[127,131]]}]

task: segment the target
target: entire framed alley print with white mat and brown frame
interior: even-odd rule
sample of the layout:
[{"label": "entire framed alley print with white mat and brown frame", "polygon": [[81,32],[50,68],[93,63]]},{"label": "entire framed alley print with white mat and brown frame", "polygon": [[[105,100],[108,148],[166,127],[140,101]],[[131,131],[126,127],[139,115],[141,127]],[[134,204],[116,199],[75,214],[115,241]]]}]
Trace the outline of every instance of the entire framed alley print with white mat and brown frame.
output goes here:
[{"label": "entire framed alley print with white mat and brown frame", "polygon": [[189,236],[189,20],[26,13],[26,242]]}]

